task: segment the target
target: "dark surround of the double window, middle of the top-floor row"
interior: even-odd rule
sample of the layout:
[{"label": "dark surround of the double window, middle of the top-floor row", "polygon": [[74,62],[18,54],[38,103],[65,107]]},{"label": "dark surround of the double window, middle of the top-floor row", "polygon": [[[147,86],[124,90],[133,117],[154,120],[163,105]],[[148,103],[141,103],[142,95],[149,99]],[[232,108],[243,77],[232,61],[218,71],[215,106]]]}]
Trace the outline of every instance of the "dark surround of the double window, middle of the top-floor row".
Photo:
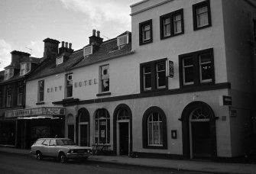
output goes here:
[{"label": "dark surround of the double window, middle of the top-floor row", "polygon": [[[181,32],[179,33],[175,33],[174,32],[174,20],[173,17],[180,15],[180,22],[181,22]],[[170,19],[170,35],[168,36],[164,36],[164,21],[169,18]],[[166,15],[161,15],[160,16],[160,40],[164,40],[170,37],[175,37],[178,36],[180,34],[184,34],[184,16],[183,16],[183,8],[177,10],[177,11],[173,11],[170,12]]]}]

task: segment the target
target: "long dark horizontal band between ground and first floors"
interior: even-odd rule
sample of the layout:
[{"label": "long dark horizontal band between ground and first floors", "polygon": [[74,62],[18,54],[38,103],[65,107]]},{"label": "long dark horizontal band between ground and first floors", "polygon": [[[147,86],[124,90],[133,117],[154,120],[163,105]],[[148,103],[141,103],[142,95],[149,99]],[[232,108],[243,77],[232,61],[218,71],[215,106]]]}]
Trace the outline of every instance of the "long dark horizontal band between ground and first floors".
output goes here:
[{"label": "long dark horizontal band between ground and first floors", "polygon": [[[183,89],[170,89],[165,91],[157,91],[157,92],[145,92],[140,94],[132,94],[132,95],[120,95],[115,97],[108,97],[108,98],[96,98],[90,100],[82,100],[77,101],[78,105],[86,105],[92,103],[103,103],[109,101],[121,101],[121,100],[131,100],[136,98],[149,98],[149,97],[157,97],[163,95],[178,95],[183,93],[190,93],[190,92],[204,92],[204,91],[212,91],[218,89],[231,89],[230,82],[223,82],[213,85],[194,85],[190,88],[183,88]],[[77,98],[78,99],[78,98]],[[63,101],[53,101],[53,105],[63,105]],[[75,105],[75,103],[73,103]]]}]

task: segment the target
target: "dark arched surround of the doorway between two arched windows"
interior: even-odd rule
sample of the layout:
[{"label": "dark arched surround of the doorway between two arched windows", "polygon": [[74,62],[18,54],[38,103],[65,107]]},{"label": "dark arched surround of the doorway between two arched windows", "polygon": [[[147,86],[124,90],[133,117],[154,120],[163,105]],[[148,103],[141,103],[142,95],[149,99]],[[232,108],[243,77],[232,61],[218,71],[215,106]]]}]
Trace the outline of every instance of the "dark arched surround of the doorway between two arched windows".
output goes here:
[{"label": "dark arched surround of the doorway between two arched windows", "polygon": [[117,153],[117,136],[116,136],[116,121],[118,118],[118,111],[121,108],[125,108],[128,111],[128,114],[130,116],[130,154],[132,152],[132,112],[131,112],[131,108],[126,105],[126,104],[120,104],[115,108],[114,114],[113,114],[113,151],[115,152],[115,154]]}]

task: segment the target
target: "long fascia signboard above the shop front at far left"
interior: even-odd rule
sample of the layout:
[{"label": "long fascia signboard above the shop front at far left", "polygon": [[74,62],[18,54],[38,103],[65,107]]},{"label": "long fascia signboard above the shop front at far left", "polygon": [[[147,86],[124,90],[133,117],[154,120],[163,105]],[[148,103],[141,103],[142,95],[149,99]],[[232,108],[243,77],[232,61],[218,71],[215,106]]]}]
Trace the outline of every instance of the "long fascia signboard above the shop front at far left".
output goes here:
[{"label": "long fascia signboard above the shop front at far left", "polygon": [[31,108],[5,111],[5,118],[20,118],[36,115],[65,115],[65,108]]}]

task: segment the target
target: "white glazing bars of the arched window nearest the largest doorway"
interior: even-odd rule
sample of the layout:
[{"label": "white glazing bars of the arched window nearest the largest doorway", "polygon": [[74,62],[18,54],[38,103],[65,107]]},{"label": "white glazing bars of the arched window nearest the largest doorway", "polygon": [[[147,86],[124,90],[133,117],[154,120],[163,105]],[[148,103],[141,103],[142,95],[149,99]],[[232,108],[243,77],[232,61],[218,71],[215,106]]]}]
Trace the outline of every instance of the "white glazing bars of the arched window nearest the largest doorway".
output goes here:
[{"label": "white glazing bars of the arched window nearest the largest doorway", "polygon": [[[153,121],[153,114],[154,112],[151,112],[151,114],[149,114],[148,118],[147,118],[147,146],[150,146],[150,147],[163,147],[163,143],[164,143],[164,137],[163,137],[163,132],[162,132],[162,144],[160,144],[160,124],[162,124],[162,131],[163,131],[163,121],[160,121],[160,114],[157,113],[158,115],[158,119],[157,121]],[[151,118],[152,121],[149,121]],[[149,125],[152,124],[152,127],[150,127]],[[150,140],[150,131],[149,129],[151,128],[151,137],[153,138],[154,140],[154,124],[157,124],[157,127],[158,127],[158,144],[157,143],[150,143],[151,140]]]}]

